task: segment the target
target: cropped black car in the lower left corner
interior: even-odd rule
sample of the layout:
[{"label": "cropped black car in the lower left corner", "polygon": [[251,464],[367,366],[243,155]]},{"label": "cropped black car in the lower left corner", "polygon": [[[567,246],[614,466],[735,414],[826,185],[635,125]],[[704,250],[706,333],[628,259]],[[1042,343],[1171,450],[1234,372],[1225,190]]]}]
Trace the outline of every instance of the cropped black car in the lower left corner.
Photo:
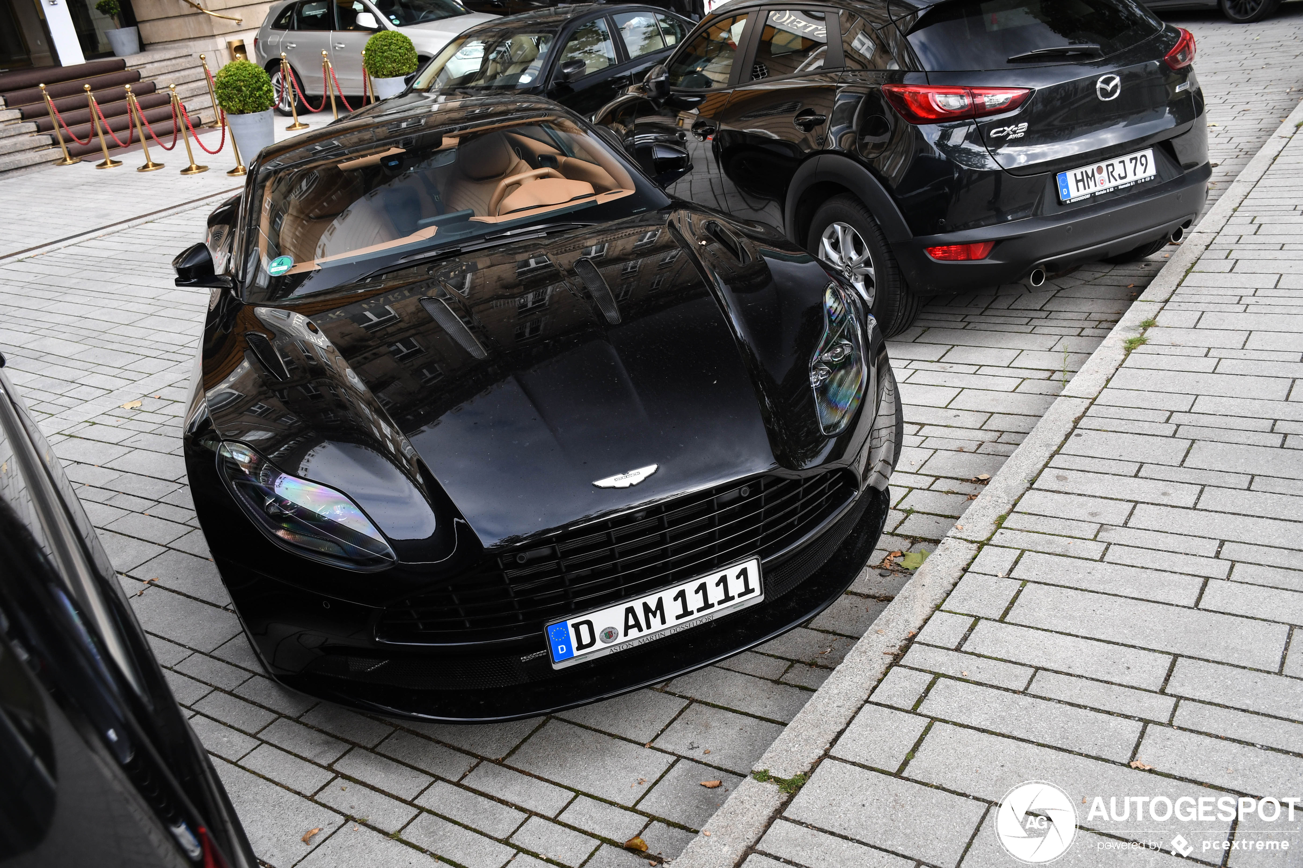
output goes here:
[{"label": "cropped black car in the lower left corner", "polygon": [[3,371],[0,563],[0,863],[255,868],[86,513]]}]

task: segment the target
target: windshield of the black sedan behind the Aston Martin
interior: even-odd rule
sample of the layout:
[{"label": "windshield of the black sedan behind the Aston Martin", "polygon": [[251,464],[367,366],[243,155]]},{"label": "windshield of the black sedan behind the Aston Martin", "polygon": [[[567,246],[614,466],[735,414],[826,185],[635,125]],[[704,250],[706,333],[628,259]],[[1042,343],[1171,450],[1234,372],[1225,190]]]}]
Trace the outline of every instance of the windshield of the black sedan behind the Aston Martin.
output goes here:
[{"label": "windshield of the black sedan behind the Aston Martin", "polygon": [[414,90],[532,87],[554,36],[554,31],[507,27],[457,36],[430,61]]}]

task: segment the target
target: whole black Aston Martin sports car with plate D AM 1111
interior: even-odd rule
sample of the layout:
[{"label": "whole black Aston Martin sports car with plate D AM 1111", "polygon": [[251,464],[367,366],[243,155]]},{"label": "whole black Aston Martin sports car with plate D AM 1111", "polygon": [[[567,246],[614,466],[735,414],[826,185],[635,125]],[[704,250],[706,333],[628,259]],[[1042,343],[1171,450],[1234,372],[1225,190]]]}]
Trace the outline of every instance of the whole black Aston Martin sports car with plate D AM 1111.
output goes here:
[{"label": "whole black Aston Martin sports car with plate D AM 1111", "polygon": [[388,100],[265,148],[208,232],[186,470],[292,688],[582,704],[801,623],[878,539],[902,415],[853,286],[554,103]]}]

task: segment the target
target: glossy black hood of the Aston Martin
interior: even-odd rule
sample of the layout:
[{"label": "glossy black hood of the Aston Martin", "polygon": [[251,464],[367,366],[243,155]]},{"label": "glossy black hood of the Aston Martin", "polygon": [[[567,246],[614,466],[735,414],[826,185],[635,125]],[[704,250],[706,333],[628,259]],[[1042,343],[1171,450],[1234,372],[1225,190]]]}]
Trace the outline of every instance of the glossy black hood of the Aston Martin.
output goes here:
[{"label": "glossy black hood of the Aston Martin", "polygon": [[[668,208],[297,305],[238,306],[229,325],[210,316],[224,347],[205,349],[214,423],[369,513],[382,501],[401,511],[392,492],[407,478],[485,547],[779,467],[848,462],[868,426],[823,437],[808,387],[826,273],[764,230],[728,224],[732,245],[715,243],[719,223]],[[610,288],[618,321],[576,275],[580,258]],[[354,458],[331,458],[344,453]],[[653,465],[636,487],[595,484]]]}]

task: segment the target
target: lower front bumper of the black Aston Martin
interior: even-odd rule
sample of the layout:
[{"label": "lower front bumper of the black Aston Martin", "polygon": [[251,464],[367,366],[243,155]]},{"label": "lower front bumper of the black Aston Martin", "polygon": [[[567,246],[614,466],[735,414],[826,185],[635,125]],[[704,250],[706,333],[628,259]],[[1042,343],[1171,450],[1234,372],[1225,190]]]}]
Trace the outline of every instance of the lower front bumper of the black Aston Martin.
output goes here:
[{"label": "lower front bumper of the black Aston Martin", "polygon": [[[766,562],[766,587],[777,590],[777,597],[701,629],[562,670],[549,664],[541,632],[537,640],[483,648],[474,656],[382,644],[370,639],[373,606],[313,595],[223,557],[216,563],[258,656],[284,686],[373,713],[490,722],[661,683],[791,630],[855,580],[882,532],[887,506],[887,492],[868,487],[817,537],[777,563]],[[791,590],[783,592],[784,586]]]}]

